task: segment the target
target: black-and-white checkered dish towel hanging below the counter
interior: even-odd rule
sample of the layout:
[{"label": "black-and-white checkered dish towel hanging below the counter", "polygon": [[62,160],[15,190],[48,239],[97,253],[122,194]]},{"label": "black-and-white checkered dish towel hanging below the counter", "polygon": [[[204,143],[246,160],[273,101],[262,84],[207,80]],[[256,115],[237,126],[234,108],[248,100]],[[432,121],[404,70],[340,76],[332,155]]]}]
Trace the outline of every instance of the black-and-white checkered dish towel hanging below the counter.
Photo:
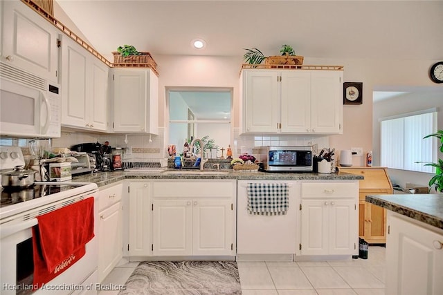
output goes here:
[{"label": "black-and-white checkered dish towel hanging below the counter", "polygon": [[284,215],[289,208],[286,183],[248,183],[248,211],[254,215]]}]

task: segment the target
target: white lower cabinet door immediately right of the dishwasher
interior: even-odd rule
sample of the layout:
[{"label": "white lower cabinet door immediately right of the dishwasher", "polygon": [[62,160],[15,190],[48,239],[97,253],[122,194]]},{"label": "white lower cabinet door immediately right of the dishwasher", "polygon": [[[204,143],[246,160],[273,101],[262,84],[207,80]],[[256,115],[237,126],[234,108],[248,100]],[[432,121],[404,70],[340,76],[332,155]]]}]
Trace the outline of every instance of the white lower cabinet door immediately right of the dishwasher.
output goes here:
[{"label": "white lower cabinet door immediately right of the dishwasher", "polygon": [[329,207],[327,200],[302,200],[302,255],[329,254]]}]

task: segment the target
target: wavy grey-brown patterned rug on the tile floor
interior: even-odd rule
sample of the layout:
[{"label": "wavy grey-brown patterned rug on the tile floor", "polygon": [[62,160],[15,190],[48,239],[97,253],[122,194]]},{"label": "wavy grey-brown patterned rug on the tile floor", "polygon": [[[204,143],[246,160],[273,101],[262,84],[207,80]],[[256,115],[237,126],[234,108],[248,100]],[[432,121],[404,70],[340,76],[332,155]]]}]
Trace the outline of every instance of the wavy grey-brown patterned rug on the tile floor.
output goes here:
[{"label": "wavy grey-brown patterned rug on the tile floor", "polygon": [[235,261],[145,261],[118,295],[239,295]]}]

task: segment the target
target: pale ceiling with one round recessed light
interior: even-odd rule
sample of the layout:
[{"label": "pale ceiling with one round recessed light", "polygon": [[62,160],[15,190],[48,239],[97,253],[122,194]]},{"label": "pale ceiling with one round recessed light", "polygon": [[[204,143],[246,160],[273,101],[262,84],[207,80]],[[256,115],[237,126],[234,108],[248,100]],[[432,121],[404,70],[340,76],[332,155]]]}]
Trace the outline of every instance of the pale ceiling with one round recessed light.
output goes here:
[{"label": "pale ceiling with one round recessed light", "polygon": [[[443,1],[55,1],[110,60],[123,44],[154,59],[279,55],[283,44],[305,57],[443,59]],[[197,37],[206,48],[192,48]]]}]

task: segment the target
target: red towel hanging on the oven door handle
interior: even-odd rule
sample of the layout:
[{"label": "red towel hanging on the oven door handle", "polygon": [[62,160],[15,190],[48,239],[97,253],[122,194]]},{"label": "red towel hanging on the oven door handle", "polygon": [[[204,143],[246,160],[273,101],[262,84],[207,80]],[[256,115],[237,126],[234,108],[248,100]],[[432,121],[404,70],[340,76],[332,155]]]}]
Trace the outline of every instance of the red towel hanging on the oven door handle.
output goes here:
[{"label": "red towel hanging on the oven door handle", "polygon": [[71,267],[94,237],[94,198],[37,216],[33,227],[34,282],[37,289]]}]

